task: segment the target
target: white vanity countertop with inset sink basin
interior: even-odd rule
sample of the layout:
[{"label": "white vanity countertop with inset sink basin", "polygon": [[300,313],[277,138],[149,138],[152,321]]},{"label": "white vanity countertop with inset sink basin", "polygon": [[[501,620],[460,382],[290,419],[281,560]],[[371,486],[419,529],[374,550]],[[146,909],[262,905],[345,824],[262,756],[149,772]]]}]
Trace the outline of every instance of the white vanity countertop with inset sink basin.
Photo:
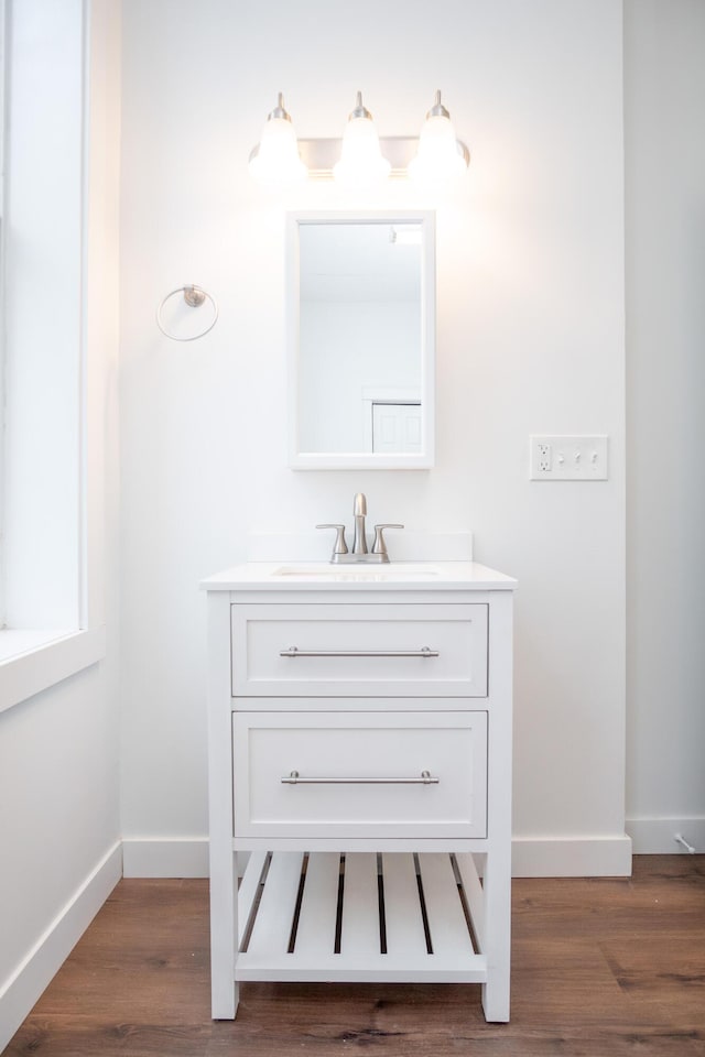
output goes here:
[{"label": "white vanity countertop with inset sink basin", "polygon": [[477,562],[248,562],[208,577],[200,586],[207,591],[511,591],[517,580]]}]

